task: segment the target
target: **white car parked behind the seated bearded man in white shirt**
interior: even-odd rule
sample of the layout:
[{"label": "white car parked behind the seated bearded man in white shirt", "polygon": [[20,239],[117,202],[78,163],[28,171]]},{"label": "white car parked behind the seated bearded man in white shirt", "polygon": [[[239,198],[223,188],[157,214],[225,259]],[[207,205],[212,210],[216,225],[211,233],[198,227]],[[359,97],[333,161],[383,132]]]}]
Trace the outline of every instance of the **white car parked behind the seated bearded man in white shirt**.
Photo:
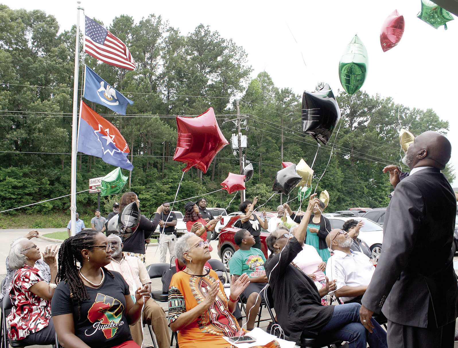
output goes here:
[{"label": "white car parked behind the seated bearded man in white shirt", "polygon": [[354,216],[334,216],[329,217],[329,221],[331,222],[331,228],[342,228],[344,222],[350,219],[354,219],[356,221],[363,220],[364,226],[360,229],[360,235],[358,238],[362,239],[366,242],[372,252],[372,257],[374,258],[375,262],[378,261],[378,257],[382,252],[382,242],[383,242],[383,227],[372,220],[369,220],[365,217],[354,217]]}]

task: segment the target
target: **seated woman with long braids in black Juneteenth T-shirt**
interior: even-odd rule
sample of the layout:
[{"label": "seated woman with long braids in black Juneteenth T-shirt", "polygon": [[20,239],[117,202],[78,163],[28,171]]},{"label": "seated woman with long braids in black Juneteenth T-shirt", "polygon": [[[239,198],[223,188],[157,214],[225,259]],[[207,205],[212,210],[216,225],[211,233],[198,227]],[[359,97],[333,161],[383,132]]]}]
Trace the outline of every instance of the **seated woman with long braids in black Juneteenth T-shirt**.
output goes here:
[{"label": "seated woman with long braids in black Juneteenth T-shirt", "polygon": [[51,311],[57,337],[65,348],[138,348],[129,325],[142,315],[149,293],[146,286],[139,287],[134,303],[122,275],[105,268],[111,262],[110,254],[107,237],[96,230],[82,230],[60,246],[60,283]]}]

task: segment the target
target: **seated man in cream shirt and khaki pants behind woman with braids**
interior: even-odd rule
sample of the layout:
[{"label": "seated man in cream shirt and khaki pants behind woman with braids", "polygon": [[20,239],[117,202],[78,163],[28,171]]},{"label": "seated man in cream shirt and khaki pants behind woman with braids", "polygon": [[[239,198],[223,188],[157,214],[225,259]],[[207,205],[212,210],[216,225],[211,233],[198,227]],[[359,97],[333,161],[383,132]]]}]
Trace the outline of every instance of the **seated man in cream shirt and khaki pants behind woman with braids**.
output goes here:
[{"label": "seated man in cream shirt and khaki pants behind woman with braids", "polygon": [[[135,294],[138,288],[143,286],[147,286],[148,291],[151,292],[151,279],[144,263],[138,257],[123,255],[123,243],[118,235],[109,235],[108,242],[111,243],[111,262],[105,267],[111,271],[121,273],[126,283],[129,284],[131,296]],[[159,348],[169,348],[170,334],[167,316],[162,307],[152,298],[149,298],[143,306],[143,320],[153,327]],[[135,325],[129,326],[129,328],[131,329],[132,339],[142,347],[142,320],[137,321]]]}]

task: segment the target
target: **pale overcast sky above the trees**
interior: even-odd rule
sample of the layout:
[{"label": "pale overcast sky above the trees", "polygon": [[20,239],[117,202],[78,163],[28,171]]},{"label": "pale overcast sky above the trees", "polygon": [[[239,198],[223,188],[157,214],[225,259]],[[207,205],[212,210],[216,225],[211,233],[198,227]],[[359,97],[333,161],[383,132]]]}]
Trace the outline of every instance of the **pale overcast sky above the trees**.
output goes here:
[{"label": "pale overcast sky above the trees", "polygon": [[[0,2],[13,9],[43,10],[57,18],[61,29],[76,23],[76,1]],[[394,102],[408,107],[432,108],[449,121],[452,164],[458,169],[458,21],[450,21],[448,30],[443,26],[434,29],[416,17],[420,0],[83,0],[81,6],[87,16],[102,20],[106,26],[121,14],[138,22],[151,13],[161,15],[182,34],[200,23],[209,25],[245,49],[253,77],[266,70],[276,86],[290,87],[298,94],[313,91],[321,81],[329,83],[335,92],[342,90],[339,59],[358,34],[369,56],[362,90],[391,96]],[[395,9],[404,16],[405,32],[398,46],[384,53],[380,30]],[[418,135],[415,129],[409,130]],[[453,186],[458,186],[458,180]]]}]

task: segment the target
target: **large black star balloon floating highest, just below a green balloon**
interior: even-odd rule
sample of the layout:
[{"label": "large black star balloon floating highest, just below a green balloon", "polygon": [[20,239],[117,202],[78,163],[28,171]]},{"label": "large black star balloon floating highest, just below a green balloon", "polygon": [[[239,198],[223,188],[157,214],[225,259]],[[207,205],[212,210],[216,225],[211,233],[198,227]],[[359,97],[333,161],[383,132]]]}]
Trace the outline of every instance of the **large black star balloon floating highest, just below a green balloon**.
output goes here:
[{"label": "large black star balloon floating highest, just below a green balloon", "polygon": [[340,109],[328,84],[302,95],[302,130],[317,142],[327,144],[340,118]]}]

